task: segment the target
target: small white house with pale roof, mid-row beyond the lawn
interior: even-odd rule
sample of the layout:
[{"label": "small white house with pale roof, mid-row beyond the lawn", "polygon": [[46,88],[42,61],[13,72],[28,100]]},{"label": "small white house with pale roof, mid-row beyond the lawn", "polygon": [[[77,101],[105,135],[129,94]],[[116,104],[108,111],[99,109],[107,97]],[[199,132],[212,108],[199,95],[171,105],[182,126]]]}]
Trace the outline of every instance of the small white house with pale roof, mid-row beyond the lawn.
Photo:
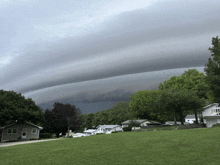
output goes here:
[{"label": "small white house with pale roof, mid-row beyond the lawn", "polygon": [[112,131],[122,132],[122,127],[120,125],[99,125],[96,128],[97,133],[110,134]]}]

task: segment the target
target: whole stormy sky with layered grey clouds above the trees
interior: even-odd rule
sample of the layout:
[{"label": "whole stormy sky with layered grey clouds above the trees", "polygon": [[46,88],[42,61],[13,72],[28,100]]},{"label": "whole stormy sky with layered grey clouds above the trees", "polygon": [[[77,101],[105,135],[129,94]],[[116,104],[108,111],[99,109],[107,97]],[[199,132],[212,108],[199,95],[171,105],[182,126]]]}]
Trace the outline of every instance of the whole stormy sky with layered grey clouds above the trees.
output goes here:
[{"label": "whole stormy sky with layered grey clouds above the trees", "polygon": [[0,89],[43,109],[111,108],[195,68],[220,34],[219,0],[0,0]]}]

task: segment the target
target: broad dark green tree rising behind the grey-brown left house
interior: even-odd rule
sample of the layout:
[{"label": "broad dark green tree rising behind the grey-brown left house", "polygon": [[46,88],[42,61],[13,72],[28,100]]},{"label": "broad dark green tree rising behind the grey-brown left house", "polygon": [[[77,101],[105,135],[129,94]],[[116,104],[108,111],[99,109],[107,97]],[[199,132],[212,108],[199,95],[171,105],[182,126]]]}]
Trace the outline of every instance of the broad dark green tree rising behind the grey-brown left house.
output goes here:
[{"label": "broad dark green tree rising behind the grey-brown left house", "polygon": [[0,90],[0,126],[15,121],[41,124],[44,114],[31,98],[26,99],[14,91]]}]

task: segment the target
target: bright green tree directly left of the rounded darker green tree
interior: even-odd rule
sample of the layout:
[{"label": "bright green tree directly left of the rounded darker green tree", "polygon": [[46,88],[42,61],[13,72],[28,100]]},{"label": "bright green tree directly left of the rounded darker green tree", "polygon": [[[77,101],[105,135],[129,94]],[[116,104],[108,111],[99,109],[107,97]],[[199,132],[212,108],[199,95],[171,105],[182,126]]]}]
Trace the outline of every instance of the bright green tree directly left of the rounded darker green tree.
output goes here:
[{"label": "bright green tree directly left of the rounded darker green tree", "polygon": [[143,90],[132,94],[129,105],[131,118],[160,120],[160,116],[154,108],[154,101],[159,93],[158,90]]}]

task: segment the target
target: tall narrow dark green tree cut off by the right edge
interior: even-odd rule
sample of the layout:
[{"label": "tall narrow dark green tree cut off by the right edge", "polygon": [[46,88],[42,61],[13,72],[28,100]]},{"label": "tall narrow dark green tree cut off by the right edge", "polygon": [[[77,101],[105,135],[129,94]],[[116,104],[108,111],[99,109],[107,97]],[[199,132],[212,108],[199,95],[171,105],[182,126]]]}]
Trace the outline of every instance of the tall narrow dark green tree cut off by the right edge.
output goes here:
[{"label": "tall narrow dark green tree cut off by the right edge", "polygon": [[220,39],[212,38],[212,47],[209,48],[212,58],[205,65],[206,80],[209,85],[209,101],[220,102]]}]

